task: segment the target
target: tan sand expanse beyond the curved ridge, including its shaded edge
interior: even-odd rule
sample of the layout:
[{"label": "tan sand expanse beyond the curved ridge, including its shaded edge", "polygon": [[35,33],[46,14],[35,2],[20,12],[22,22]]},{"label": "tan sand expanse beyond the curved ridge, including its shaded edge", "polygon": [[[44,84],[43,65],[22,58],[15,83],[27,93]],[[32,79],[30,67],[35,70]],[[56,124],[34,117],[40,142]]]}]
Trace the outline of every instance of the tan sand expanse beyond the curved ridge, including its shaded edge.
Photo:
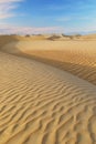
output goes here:
[{"label": "tan sand expanse beyond the curved ridge, including its shaded edge", "polygon": [[19,41],[3,50],[14,54],[20,50],[96,85],[96,41]]}]

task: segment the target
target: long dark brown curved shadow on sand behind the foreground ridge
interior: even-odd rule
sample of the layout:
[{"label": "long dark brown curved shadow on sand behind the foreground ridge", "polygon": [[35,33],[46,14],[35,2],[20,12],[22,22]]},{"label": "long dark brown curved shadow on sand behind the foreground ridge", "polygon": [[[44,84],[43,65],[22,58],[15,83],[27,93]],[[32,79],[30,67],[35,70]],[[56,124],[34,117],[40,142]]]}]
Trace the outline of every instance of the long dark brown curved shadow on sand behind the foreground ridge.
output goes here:
[{"label": "long dark brown curved shadow on sand behind the foreground ridge", "polygon": [[55,66],[57,69],[64,70],[68,73],[74,74],[75,76],[78,76],[78,78],[86,80],[86,81],[93,83],[94,85],[96,85],[96,68],[41,58],[41,56],[33,55],[32,53],[30,55],[30,54],[25,54],[25,53],[21,52],[17,48],[13,48],[13,49],[17,49],[17,51],[14,50],[14,53],[13,53],[13,51],[11,52],[11,51],[4,50],[3,45],[7,43],[10,43],[11,41],[18,42],[19,40],[15,35],[11,35],[9,39],[7,38],[7,41],[2,42],[3,44],[0,44],[0,51],[15,55],[15,56],[20,56],[20,58],[22,56],[24,59],[32,59],[38,62],[42,62],[42,63]]}]

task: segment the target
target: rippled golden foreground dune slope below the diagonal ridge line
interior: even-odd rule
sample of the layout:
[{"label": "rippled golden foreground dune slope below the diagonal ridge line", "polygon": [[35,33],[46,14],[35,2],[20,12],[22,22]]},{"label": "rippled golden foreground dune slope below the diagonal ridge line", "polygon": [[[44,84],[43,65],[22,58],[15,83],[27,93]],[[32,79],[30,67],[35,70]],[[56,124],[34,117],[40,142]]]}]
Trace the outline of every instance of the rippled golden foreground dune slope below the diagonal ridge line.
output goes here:
[{"label": "rippled golden foreground dune slope below the diagonal ridge line", "polygon": [[0,144],[96,144],[96,86],[0,52]]}]

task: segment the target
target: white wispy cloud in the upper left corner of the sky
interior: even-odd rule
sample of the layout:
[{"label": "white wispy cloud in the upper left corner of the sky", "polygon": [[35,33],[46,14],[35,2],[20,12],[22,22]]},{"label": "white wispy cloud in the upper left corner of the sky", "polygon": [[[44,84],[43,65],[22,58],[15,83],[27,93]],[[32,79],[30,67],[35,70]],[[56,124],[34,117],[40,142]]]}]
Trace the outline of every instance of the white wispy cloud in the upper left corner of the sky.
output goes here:
[{"label": "white wispy cloud in the upper left corner of the sky", "polygon": [[18,2],[22,0],[0,0],[0,19],[14,17],[13,10],[18,8]]}]

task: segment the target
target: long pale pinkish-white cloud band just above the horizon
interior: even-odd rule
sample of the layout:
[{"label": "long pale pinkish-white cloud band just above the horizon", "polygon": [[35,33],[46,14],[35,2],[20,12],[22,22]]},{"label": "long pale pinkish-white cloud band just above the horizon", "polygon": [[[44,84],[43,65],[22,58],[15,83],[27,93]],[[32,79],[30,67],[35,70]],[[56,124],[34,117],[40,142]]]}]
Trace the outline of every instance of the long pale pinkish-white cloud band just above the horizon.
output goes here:
[{"label": "long pale pinkish-white cloud band just above the horizon", "polygon": [[0,34],[40,34],[40,33],[90,33],[96,32],[96,25],[87,27],[17,27],[10,24],[0,24]]}]

